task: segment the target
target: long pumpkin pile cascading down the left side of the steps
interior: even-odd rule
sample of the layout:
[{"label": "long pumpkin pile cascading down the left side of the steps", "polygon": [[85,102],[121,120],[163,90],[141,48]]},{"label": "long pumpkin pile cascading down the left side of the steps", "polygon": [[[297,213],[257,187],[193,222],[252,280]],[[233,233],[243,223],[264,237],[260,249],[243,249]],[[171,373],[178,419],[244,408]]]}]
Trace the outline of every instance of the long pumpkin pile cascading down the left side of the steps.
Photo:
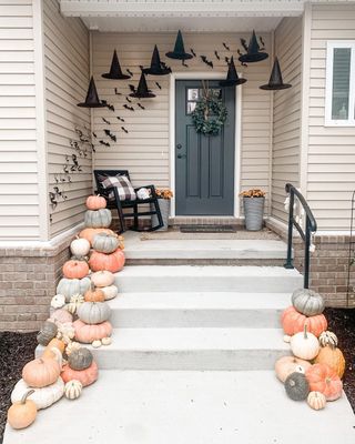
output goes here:
[{"label": "long pumpkin pile cascading down the left side of the steps", "polygon": [[50,317],[37,336],[44,351],[24,365],[11,394],[8,422],[13,428],[29,426],[38,410],[63,395],[78,398],[82,387],[98,379],[93,355],[82,344],[98,347],[111,343],[111,310],[105,301],[118,294],[113,273],[124,265],[123,238],[108,229],[111,212],[103,198],[89,196],[87,206],[87,228],[71,242],[73,256],[63,265]]}]

